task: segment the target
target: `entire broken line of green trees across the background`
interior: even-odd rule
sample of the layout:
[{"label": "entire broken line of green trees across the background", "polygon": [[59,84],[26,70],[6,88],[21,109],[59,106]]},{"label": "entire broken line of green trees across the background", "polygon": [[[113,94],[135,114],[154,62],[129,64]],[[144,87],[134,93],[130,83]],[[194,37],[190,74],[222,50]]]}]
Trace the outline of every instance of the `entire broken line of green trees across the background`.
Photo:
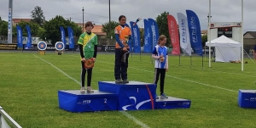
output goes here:
[{"label": "entire broken line of green trees across the background", "polygon": [[[166,46],[171,47],[171,39],[169,36],[168,31],[168,24],[167,24],[167,15],[168,12],[164,12],[156,17],[156,22],[159,27],[160,35],[166,35],[167,42]],[[23,36],[27,36],[26,33],[26,25],[31,27],[32,36],[38,36],[44,41],[51,40],[53,44],[55,42],[60,41],[61,39],[61,32],[60,26],[65,29],[65,34],[67,35],[67,26],[71,26],[73,28],[73,35],[80,36],[82,33],[82,28],[74,23],[71,20],[64,19],[61,15],[56,15],[55,18],[49,19],[49,21],[45,20],[44,12],[41,7],[36,6],[31,12],[32,20],[30,22],[21,21],[19,23],[20,27],[22,28]],[[102,32],[107,33],[107,38],[109,39],[111,36],[114,37],[114,28],[119,25],[117,21],[110,21],[106,22],[102,25]],[[144,31],[140,31],[141,34],[141,46],[143,46],[143,36]],[[0,17],[0,35],[8,36],[8,22],[4,21]],[[16,26],[13,26],[13,36],[17,36]],[[202,43],[204,44],[207,42],[207,36],[202,36]]]}]

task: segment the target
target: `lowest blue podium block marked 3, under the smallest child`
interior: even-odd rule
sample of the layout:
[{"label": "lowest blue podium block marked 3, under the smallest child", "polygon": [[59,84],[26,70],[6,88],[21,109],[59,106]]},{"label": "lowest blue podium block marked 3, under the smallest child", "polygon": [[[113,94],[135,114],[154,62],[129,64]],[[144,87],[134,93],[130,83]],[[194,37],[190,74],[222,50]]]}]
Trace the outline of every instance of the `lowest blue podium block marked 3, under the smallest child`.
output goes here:
[{"label": "lowest blue podium block marked 3, under the smallest child", "polygon": [[188,99],[168,97],[156,99],[156,109],[188,109],[191,101]]}]

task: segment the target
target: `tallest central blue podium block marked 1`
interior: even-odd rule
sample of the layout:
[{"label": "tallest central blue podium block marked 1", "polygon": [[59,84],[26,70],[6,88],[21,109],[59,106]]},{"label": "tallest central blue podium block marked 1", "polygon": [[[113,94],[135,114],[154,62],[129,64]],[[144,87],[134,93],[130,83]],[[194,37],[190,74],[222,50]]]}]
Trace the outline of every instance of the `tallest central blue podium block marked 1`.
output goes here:
[{"label": "tallest central blue podium block marked 1", "polygon": [[119,110],[155,109],[155,84],[140,81],[115,83],[114,81],[99,81],[99,90],[112,92],[119,96]]}]

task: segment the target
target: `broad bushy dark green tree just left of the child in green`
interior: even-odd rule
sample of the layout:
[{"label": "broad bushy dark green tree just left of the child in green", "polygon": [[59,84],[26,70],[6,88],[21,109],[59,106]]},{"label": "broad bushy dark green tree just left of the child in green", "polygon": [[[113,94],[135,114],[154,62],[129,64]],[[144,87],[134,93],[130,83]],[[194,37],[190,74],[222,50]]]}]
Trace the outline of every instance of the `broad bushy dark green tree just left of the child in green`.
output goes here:
[{"label": "broad bushy dark green tree just left of the child in green", "polygon": [[57,15],[54,19],[50,19],[44,23],[44,30],[40,30],[40,38],[44,41],[51,40],[52,44],[55,45],[55,42],[61,41],[60,26],[64,28],[66,36],[68,34],[67,26],[70,26],[73,29],[74,36],[80,36],[82,34],[82,29],[79,25]]}]

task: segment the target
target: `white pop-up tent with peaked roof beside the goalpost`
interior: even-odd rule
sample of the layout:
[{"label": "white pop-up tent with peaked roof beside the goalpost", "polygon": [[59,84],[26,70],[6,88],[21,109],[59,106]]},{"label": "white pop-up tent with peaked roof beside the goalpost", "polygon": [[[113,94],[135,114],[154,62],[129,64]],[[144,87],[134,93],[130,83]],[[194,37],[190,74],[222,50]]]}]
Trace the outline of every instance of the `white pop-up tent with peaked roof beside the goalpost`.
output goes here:
[{"label": "white pop-up tent with peaked roof beside the goalpost", "polygon": [[[209,46],[209,42],[206,42]],[[219,36],[211,41],[211,47],[215,47],[216,62],[230,62],[241,60],[241,43],[231,40],[226,36]]]}]

